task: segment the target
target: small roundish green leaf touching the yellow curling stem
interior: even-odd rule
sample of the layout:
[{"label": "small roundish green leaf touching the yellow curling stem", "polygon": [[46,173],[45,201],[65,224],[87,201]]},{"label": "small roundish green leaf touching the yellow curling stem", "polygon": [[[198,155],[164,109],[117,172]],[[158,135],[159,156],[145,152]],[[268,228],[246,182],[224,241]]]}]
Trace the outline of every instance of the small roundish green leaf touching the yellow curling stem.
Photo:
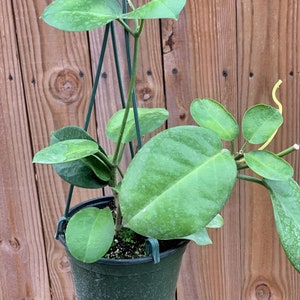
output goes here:
[{"label": "small roundish green leaf touching the yellow curling stem", "polygon": [[282,123],[283,118],[278,109],[258,104],[246,111],[242,121],[242,132],[250,144],[261,144],[266,142]]}]

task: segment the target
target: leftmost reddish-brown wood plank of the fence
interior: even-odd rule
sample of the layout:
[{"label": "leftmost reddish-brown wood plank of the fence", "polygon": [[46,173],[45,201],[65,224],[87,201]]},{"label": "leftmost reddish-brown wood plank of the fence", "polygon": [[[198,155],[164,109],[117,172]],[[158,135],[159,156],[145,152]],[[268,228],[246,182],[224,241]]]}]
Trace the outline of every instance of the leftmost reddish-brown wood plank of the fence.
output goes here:
[{"label": "leftmost reddish-brown wood plank of the fence", "polygon": [[50,299],[13,10],[0,4],[0,299]]}]

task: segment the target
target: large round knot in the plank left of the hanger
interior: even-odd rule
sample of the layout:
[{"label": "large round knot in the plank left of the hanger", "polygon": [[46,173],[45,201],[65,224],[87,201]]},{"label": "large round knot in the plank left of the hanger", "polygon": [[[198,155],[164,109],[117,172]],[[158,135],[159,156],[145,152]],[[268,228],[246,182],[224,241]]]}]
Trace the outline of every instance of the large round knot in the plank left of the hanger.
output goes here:
[{"label": "large round knot in the plank left of the hanger", "polygon": [[76,101],[81,90],[79,75],[72,70],[65,69],[53,76],[54,82],[51,86],[53,96],[67,103]]}]

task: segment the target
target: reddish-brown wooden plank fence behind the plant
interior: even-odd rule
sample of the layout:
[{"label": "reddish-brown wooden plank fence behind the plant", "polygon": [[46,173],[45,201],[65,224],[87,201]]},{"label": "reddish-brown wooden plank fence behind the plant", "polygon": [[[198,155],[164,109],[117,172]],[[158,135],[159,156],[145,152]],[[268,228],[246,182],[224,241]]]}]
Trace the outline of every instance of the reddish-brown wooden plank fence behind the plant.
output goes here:
[{"label": "reddish-brown wooden plank fence behind the plant", "polygon": [[[83,125],[103,31],[50,28],[39,19],[49,2],[0,1],[3,300],[75,299],[66,255],[53,238],[68,185],[51,167],[34,166],[31,160],[48,144],[51,130]],[[218,99],[241,119],[249,105],[271,104],[271,89],[280,78],[285,127],[271,145],[279,151],[300,138],[299,49],[297,0],[187,0],[178,22],[146,25],[138,102],[167,106],[169,126],[192,122],[189,104],[196,97]],[[90,128],[101,141],[100,131],[119,98],[113,77],[110,59],[101,74],[97,124]],[[288,159],[299,182],[299,154]],[[95,193],[76,189],[74,203]],[[241,182],[222,214],[225,226],[210,231],[213,245],[189,245],[177,299],[300,299],[300,276],[279,244],[267,193]]]}]

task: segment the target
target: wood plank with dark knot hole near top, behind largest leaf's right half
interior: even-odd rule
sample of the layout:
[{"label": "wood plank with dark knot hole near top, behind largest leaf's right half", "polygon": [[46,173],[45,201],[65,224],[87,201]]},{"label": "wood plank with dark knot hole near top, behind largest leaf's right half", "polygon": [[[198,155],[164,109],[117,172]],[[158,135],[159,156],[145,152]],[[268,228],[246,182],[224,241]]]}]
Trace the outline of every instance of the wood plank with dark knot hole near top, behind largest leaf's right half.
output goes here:
[{"label": "wood plank with dark knot hole near top, behind largest leaf's right half", "polygon": [[[235,1],[189,1],[178,22],[163,21],[170,126],[193,123],[189,105],[196,97],[218,99],[236,114],[235,15]],[[238,188],[222,212],[224,228],[211,231],[213,245],[189,246],[178,282],[178,300],[238,299],[242,282],[237,199]]]}]

